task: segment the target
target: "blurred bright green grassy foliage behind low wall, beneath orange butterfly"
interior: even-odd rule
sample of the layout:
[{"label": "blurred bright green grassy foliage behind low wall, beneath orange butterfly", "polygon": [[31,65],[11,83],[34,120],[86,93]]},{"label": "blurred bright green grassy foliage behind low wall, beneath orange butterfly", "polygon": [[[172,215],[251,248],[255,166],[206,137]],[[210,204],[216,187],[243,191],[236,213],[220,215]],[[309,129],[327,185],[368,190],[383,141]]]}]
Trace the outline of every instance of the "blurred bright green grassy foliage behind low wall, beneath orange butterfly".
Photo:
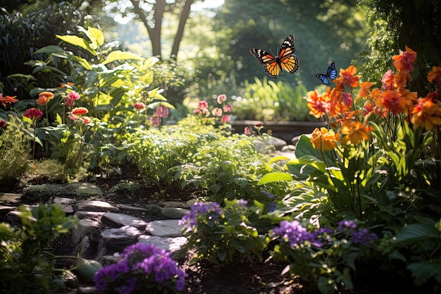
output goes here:
[{"label": "blurred bright green grassy foliage behind low wall, beneath orange butterfly", "polygon": [[311,121],[303,99],[306,92],[302,84],[292,86],[267,78],[254,78],[252,84],[245,81],[239,96],[233,97],[235,117],[256,121]]}]

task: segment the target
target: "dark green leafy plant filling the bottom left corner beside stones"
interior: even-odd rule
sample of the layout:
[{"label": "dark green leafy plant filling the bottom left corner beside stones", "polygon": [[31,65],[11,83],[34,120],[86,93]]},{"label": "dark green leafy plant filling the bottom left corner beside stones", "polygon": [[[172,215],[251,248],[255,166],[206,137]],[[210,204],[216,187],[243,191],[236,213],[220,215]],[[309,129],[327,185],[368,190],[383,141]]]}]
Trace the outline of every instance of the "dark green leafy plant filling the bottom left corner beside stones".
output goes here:
[{"label": "dark green leafy plant filling the bottom left corner beside stones", "polygon": [[60,270],[50,246],[70,231],[76,219],[66,217],[57,206],[18,210],[22,228],[0,223],[0,293],[57,293],[63,282],[56,275]]}]

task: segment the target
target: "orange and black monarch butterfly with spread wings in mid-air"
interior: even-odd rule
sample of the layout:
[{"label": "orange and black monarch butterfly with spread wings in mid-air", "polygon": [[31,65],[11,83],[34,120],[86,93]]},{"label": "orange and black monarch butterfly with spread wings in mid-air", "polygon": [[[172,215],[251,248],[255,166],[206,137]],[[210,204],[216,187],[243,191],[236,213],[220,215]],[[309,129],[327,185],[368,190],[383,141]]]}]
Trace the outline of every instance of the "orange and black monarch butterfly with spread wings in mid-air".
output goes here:
[{"label": "orange and black monarch butterfly with spread wings in mid-air", "polygon": [[296,50],[293,35],[289,35],[283,41],[277,57],[262,49],[252,48],[249,51],[263,65],[269,78],[278,78],[282,68],[291,74],[299,70],[299,59],[294,55]]}]

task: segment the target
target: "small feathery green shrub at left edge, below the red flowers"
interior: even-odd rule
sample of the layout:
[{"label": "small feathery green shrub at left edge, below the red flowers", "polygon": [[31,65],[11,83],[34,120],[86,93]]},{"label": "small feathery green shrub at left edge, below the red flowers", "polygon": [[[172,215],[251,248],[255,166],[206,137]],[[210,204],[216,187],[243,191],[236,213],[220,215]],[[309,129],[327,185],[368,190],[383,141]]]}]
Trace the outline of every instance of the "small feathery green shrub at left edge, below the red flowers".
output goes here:
[{"label": "small feathery green shrub at left edge, below the red flowers", "polygon": [[[4,121],[0,118],[0,121]],[[25,126],[16,116],[8,116],[0,127],[0,180],[2,183],[18,183],[27,170],[29,138],[23,132]]]}]

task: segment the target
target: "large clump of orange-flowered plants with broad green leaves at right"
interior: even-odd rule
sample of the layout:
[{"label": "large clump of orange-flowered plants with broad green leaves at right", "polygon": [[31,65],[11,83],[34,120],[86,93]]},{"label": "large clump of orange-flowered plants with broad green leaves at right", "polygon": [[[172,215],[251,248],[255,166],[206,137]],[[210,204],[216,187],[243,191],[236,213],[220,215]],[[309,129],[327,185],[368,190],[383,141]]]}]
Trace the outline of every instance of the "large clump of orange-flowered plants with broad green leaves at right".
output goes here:
[{"label": "large clump of orange-flowered plants with broad green leaves at right", "polygon": [[[397,268],[411,272],[416,286],[437,285],[437,267],[421,269],[441,254],[432,242],[440,235],[435,226],[440,210],[440,93],[417,98],[407,90],[415,51],[406,47],[393,59],[397,73],[387,71],[381,89],[371,89],[372,82],[359,84],[356,68],[349,66],[332,90],[309,92],[310,113],[325,116],[330,129],[302,136],[296,158],[285,164],[288,173],[268,173],[259,183],[299,180],[302,192],[285,198],[282,204],[289,207],[279,214],[301,219],[320,212],[322,217],[314,220],[321,226],[335,226],[342,219],[362,221],[383,236],[372,255],[383,256],[385,267],[397,262]],[[439,89],[441,68],[433,67],[428,81]],[[361,99],[366,102],[357,104]],[[280,159],[285,158],[272,160]],[[428,229],[416,233],[423,227]]]}]

